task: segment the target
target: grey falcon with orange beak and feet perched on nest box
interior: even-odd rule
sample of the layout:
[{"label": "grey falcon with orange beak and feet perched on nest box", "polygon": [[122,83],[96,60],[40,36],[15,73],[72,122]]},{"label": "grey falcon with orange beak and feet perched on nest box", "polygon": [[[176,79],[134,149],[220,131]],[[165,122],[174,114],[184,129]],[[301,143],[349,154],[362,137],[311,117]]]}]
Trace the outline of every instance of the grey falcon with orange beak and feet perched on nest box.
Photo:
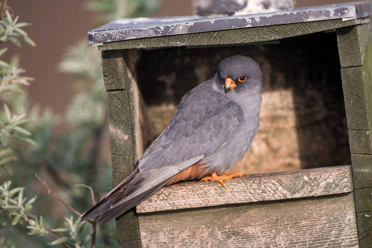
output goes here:
[{"label": "grey falcon with orange beak and feet perched on nest box", "polygon": [[256,61],[241,55],[222,60],[214,77],[182,98],[133,173],[81,220],[97,218],[105,224],[180,180],[202,178],[226,187],[224,179],[241,173],[223,173],[243,158],[258,132],[261,90],[262,72]]}]

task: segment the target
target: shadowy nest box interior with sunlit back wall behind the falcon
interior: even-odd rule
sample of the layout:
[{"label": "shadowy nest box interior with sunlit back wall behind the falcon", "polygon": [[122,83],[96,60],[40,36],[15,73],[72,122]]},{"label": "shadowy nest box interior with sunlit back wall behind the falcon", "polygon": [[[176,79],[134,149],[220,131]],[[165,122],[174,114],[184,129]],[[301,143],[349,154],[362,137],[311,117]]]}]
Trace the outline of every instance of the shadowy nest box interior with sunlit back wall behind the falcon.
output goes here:
[{"label": "shadowy nest box interior with sunlit back wall behind the falcon", "polygon": [[136,76],[152,141],[190,89],[232,55],[263,72],[260,130],[243,161],[246,174],[350,164],[336,30],[239,46],[176,47],[140,52]]}]

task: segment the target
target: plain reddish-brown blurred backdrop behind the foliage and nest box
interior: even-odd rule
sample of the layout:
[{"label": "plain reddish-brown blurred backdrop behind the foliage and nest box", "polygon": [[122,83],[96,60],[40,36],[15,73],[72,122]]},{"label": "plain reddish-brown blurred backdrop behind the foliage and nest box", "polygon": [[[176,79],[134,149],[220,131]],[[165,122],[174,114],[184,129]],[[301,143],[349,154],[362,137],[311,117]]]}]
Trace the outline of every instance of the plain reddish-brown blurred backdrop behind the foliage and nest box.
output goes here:
[{"label": "plain reddish-brown blurred backdrop behind the foliage and nest box", "polygon": [[[151,16],[185,16],[191,15],[192,0],[158,0],[157,8]],[[318,6],[336,4],[342,0],[296,0],[295,7]],[[103,24],[94,18],[94,11],[84,7],[86,0],[50,1],[9,1],[15,15],[20,21],[31,22],[26,29],[28,35],[37,44],[36,47],[9,47],[3,59],[7,60],[15,53],[21,53],[20,66],[26,69],[30,77],[36,81],[29,87],[32,103],[39,103],[42,107],[51,107],[55,113],[66,110],[75,91],[73,83],[78,78],[69,73],[58,70],[57,64],[67,51],[67,46],[74,45],[78,39],[87,42],[87,32]],[[90,49],[97,49],[92,47]]]}]

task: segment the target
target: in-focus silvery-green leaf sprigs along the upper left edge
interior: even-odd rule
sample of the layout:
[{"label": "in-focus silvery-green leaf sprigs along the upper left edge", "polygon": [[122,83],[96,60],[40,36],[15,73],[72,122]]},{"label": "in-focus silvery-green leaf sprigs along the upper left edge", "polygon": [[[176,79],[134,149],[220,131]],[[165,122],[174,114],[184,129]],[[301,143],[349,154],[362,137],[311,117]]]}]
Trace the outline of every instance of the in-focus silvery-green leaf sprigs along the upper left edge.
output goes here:
[{"label": "in-focus silvery-green leaf sprigs along the upper left edge", "polygon": [[[3,19],[0,20],[0,43],[13,42],[20,46],[20,41],[35,45],[27,36],[27,33],[21,28],[30,25],[29,23],[17,23],[18,16],[13,20],[9,11],[5,11]],[[0,49],[0,56],[7,51],[7,48]],[[12,113],[11,109],[17,109],[17,104],[22,101],[17,101],[19,97],[15,95],[25,95],[22,86],[29,86],[31,77],[23,77],[20,74],[25,70],[18,67],[19,59],[13,57],[10,63],[0,60],[0,98],[3,100],[3,112],[0,111],[0,173],[5,171],[12,174],[9,163],[15,161],[17,157],[14,155],[15,146],[23,141],[36,146],[35,141],[31,139],[31,132],[23,126],[32,122],[26,118],[26,113]]]}]

